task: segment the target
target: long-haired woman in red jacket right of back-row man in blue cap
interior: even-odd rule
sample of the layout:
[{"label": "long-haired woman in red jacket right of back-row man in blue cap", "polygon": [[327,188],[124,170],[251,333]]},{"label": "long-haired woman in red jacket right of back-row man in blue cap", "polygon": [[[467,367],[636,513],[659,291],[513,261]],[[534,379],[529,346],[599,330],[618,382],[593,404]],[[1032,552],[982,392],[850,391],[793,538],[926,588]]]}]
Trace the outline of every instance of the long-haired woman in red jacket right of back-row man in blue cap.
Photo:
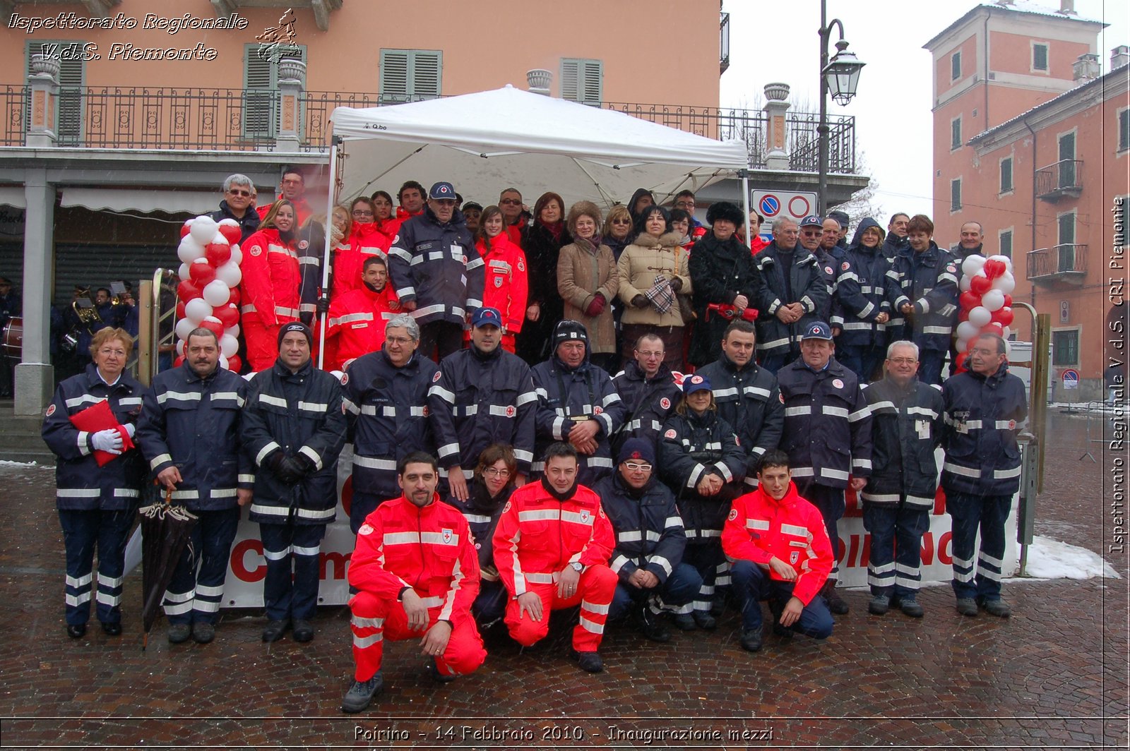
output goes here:
[{"label": "long-haired woman in red jacket right of back-row man in blue cap", "polygon": [[[479,229],[475,233],[475,247],[487,267],[483,290],[483,305],[502,313],[502,346],[514,351],[514,334],[522,330],[525,320],[525,298],[529,290],[525,254],[510,242],[502,209],[488,206],[483,210]],[[467,334],[470,338],[470,332]]]}]

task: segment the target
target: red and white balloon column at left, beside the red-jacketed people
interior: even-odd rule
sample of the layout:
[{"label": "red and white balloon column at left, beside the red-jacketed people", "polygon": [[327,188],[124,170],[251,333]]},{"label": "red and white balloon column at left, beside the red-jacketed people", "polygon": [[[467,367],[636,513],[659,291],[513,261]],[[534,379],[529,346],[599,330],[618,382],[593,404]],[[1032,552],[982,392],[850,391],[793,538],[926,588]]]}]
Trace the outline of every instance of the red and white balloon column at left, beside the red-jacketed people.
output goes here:
[{"label": "red and white balloon column at left, beside the red-jacketed people", "polygon": [[238,373],[240,349],[240,225],[234,219],[189,219],[181,227],[181,259],[176,288],[176,361],[184,361],[184,342],[198,326],[219,337],[220,367]]}]

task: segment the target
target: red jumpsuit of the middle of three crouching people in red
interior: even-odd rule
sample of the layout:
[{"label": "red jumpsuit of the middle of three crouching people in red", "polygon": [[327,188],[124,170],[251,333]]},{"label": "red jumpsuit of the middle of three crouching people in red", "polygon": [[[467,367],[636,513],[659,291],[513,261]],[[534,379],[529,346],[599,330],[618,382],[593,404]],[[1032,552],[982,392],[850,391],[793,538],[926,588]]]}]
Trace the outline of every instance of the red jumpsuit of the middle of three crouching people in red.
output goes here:
[{"label": "red jumpsuit of the middle of three crouching people in red", "polygon": [[[559,501],[541,482],[530,482],[511,495],[495,527],[495,566],[510,592],[506,628],[522,646],[549,631],[549,611],[581,605],[573,629],[573,648],[596,652],[605,634],[608,605],[616,591],[616,574],[608,567],[616,539],[600,506],[600,496],[576,486],[573,497]],[[585,568],[572,597],[557,594],[562,569],[573,561]],[[518,596],[533,592],[541,597],[540,621],[521,612]]]}]

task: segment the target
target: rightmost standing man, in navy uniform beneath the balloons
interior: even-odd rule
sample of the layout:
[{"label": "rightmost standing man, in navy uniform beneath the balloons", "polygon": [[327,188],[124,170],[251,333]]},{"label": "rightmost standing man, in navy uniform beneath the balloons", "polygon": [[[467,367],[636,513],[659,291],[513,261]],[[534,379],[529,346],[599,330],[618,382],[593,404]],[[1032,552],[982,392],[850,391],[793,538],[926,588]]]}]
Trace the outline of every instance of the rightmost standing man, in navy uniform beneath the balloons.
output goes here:
[{"label": "rightmost standing man, in navy uniform beneath the balloons", "polygon": [[1020,486],[1016,436],[1028,417],[1028,400],[1024,382],[1008,372],[1007,344],[997,334],[973,340],[965,365],[968,370],[941,385],[946,410],[941,488],[953,518],[954,594],[963,615],[976,615],[980,605],[1008,618],[1011,609],[1000,599],[1005,523]]}]

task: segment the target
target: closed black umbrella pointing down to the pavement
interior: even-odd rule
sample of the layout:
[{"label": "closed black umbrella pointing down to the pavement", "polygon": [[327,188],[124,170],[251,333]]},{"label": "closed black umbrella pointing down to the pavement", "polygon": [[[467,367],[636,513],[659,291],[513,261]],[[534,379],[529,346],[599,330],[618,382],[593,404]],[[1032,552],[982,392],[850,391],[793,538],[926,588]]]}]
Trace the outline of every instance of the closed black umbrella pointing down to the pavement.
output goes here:
[{"label": "closed black umbrella pointing down to the pavement", "polygon": [[192,538],[197,516],[183,506],[174,506],[173,491],[165,499],[138,509],[141,515],[141,621],[145,637],[141,649],[149,645],[149,629],[157,620],[160,602],[181,560],[184,547]]}]

